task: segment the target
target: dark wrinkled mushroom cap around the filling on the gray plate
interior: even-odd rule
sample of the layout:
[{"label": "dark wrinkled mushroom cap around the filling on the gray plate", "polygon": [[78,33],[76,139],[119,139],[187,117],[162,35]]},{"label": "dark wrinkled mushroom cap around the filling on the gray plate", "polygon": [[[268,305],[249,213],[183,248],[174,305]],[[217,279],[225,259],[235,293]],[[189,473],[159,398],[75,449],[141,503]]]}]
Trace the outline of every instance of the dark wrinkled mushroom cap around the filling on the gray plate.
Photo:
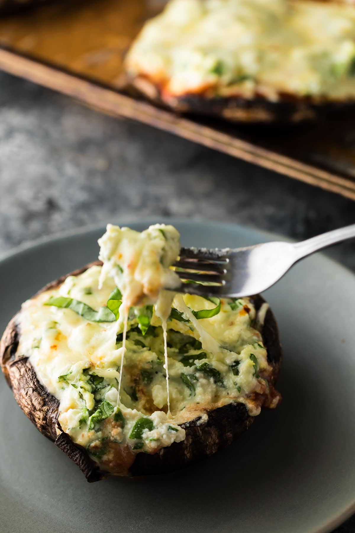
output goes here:
[{"label": "dark wrinkled mushroom cap around the filling on the gray plate", "polygon": [[[58,287],[68,276],[78,276],[95,264],[102,263],[99,261],[89,263],[84,268],[49,283],[37,294]],[[265,303],[259,295],[251,296],[251,300],[257,312]],[[62,431],[58,422],[59,401],[39,382],[28,357],[17,353],[21,335],[18,326],[19,313],[16,313],[7,325],[0,342],[1,367],[16,402],[37,429],[54,441],[55,445],[79,466],[89,482],[104,479],[108,473],[101,471],[99,465],[89,457],[86,449],[77,445]],[[273,367],[273,381],[270,383],[273,387],[282,361],[282,349],[276,320],[270,309],[267,310],[263,321],[261,334],[268,352],[269,363]],[[207,417],[198,416],[180,424],[186,431],[184,441],[174,442],[154,455],[136,454],[135,461],[127,474],[139,476],[169,472],[212,455],[233,442],[254,420],[254,417],[247,413],[244,403],[238,402],[216,409],[207,409],[205,413]]]}]

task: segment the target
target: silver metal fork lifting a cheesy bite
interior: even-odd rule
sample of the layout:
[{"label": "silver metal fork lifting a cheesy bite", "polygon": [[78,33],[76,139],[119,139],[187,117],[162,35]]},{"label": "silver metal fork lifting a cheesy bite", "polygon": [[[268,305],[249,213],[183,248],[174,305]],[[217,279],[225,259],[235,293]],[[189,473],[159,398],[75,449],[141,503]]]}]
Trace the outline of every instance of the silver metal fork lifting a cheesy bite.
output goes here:
[{"label": "silver metal fork lifting a cheesy bite", "polygon": [[[355,224],[301,243],[276,241],[246,248],[181,248],[175,265],[187,281],[177,289],[199,296],[241,298],[274,285],[291,266],[314,252],[355,237]],[[201,285],[207,283],[207,285]],[[210,285],[210,284],[213,285]]]}]

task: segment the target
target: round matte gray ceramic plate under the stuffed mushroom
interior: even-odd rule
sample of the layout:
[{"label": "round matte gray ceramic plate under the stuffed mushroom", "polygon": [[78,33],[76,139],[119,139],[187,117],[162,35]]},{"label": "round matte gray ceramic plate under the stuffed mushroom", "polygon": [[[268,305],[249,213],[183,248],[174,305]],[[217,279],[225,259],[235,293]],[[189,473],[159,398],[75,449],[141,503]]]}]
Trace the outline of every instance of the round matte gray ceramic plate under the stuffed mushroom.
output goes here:
[{"label": "round matte gray ceramic plate under the stuffed mushroom", "polygon": [[[120,221],[135,229],[148,223]],[[185,246],[275,238],[172,221]],[[47,281],[96,259],[103,228],[22,248],[0,262],[1,329]],[[16,405],[1,377],[0,516],[6,532],[320,533],[355,511],[355,277],[318,255],[266,297],[284,348],[282,405],[208,461],[147,479],[88,484]]]}]

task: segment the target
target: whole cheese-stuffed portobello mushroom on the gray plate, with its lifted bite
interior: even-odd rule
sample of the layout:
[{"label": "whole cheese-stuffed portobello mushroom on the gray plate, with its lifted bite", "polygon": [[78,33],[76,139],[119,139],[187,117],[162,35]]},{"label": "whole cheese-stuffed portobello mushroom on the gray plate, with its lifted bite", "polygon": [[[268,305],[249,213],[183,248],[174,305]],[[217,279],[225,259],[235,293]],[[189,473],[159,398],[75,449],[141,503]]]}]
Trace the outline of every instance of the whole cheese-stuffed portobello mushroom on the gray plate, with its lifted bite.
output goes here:
[{"label": "whole cheese-stuffed portobello mushroom on the gray plate, with its lifted bite", "polygon": [[101,261],[24,302],[0,346],[16,402],[88,481],[178,469],[277,406],[282,353],[261,296],[174,292],[168,225],[109,224],[99,243]]}]

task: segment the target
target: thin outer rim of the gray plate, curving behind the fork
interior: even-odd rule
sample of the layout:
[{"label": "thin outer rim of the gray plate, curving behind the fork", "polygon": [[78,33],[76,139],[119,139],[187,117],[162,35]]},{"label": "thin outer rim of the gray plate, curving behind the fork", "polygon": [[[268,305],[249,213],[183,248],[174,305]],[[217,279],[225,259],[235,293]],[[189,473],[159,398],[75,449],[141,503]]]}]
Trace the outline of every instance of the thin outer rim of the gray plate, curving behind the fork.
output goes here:
[{"label": "thin outer rim of the gray plate, curving behind the fork", "polygon": [[[159,219],[159,223],[172,224],[172,225],[190,223],[192,225],[201,226],[203,224],[209,224],[214,227],[218,227],[219,229],[223,229],[223,228],[228,229],[228,230],[241,229],[241,230],[257,232],[260,235],[263,235],[267,240],[275,240],[276,238],[276,239],[288,241],[290,243],[296,242],[295,239],[291,239],[280,233],[258,229],[257,227],[253,227],[248,224],[244,225],[244,224],[238,224],[236,222],[223,222],[223,221],[214,221],[214,220],[211,221],[211,220],[204,219],[203,217],[199,219],[188,219],[188,218],[183,218],[183,217],[179,218],[179,217],[167,217],[167,216],[161,216],[161,217],[146,216],[146,217],[142,217],[138,219],[134,216],[127,216],[127,217],[123,216],[123,217],[112,217],[112,218],[113,220],[110,223],[117,224],[117,225],[122,225],[122,224],[127,225],[131,223],[133,224],[137,224],[137,223],[145,224],[146,223],[147,225],[150,225],[152,223],[158,223],[157,218]],[[51,233],[50,235],[46,235],[46,236],[39,237],[36,239],[27,240],[26,242],[18,246],[14,246],[10,248],[9,251],[6,251],[0,254],[0,268],[1,268],[2,263],[5,263],[7,260],[13,259],[15,256],[20,255],[21,253],[29,251],[32,248],[37,248],[37,247],[40,247],[40,246],[43,246],[49,243],[53,243],[53,242],[55,243],[60,240],[65,240],[71,237],[76,237],[76,236],[84,235],[86,233],[94,232],[99,229],[104,229],[106,224],[102,221],[101,222],[98,221],[92,224],[85,224],[84,226],[81,226],[78,228],[56,231],[54,233]],[[333,265],[337,269],[340,269],[346,275],[355,277],[355,273],[350,268],[348,268],[348,266],[341,264],[339,261],[333,259],[333,257],[329,257],[322,252],[317,252],[315,255],[319,256],[322,261],[325,260],[326,262],[333,263]],[[350,518],[350,516],[352,516],[354,513],[355,513],[355,493],[354,493],[352,504],[346,506],[339,514],[334,516],[334,518],[327,521],[327,523],[323,523],[319,527],[317,526],[315,529],[311,530],[310,533],[332,533],[334,528],[336,528],[337,526],[340,526],[345,520]]]}]

